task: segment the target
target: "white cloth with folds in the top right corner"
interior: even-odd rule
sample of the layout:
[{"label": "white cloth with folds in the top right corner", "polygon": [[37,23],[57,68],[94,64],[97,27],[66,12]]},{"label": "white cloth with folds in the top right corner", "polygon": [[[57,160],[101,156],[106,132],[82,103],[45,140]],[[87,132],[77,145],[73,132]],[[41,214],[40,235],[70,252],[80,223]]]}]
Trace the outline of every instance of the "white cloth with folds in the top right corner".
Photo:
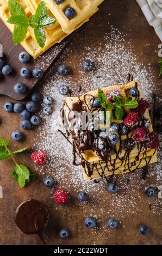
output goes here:
[{"label": "white cloth with folds in the top right corner", "polygon": [[162,41],[162,0],[136,0],[136,2],[140,5],[149,25],[154,27]]}]

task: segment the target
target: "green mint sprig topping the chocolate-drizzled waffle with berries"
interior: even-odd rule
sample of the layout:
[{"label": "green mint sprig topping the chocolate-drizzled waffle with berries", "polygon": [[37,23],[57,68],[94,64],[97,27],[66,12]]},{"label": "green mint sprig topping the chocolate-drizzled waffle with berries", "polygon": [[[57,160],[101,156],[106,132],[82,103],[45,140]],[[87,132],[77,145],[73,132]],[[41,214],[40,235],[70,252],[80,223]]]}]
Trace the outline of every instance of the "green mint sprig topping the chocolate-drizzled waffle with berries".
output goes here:
[{"label": "green mint sprig topping the chocolate-drizzled waffle with berries", "polygon": [[122,119],[124,110],[123,107],[132,109],[138,107],[138,101],[132,100],[131,98],[127,98],[123,104],[122,97],[114,96],[113,101],[111,103],[107,99],[107,95],[103,92],[102,89],[98,88],[98,99],[101,103],[101,106],[104,108],[104,111],[108,111],[109,108],[115,108],[115,114],[117,119]]}]

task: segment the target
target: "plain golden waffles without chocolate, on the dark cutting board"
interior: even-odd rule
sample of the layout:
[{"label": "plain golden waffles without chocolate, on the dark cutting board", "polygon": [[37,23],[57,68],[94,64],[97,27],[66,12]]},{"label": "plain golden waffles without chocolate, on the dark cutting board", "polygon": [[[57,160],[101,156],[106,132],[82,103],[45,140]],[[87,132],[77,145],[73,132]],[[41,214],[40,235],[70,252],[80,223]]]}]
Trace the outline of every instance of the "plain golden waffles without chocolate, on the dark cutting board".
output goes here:
[{"label": "plain golden waffles without chocolate, on the dark cutting board", "polygon": [[[24,8],[27,17],[29,18],[31,15],[35,14],[35,11],[41,2],[41,0],[17,0],[18,3],[22,5]],[[84,22],[89,20],[89,17],[94,14],[98,8],[97,5],[99,5],[103,0],[83,0],[83,1],[73,1],[73,0],[66,0],[63,4],[56,4],[54,1],[47,0],[45,1],[48,7],[48,13],[53,17],[58,17],[57,22],[53,26],[45,28],[46,31],[46,43],[43,48],[41,48],[38,43],[36,42],[34,30],[33,28],[28,28],[28,33],[26,38],[21,42],[21,45],[23,48],[31,55],[33,58],[39,57],[43,52],[47,51],[49,48],[51,48],[54,44],[57,44],[61,42],[68,34],[72,33],[75,29],[82,26]],[[71,3],[72,2],[72,3]],[[74,3],[75,2],[75,3]],[[84,5],[83,5],[84,2]],[[87,2],[87,4],[85,4]],[[78,3],[78,4],[77,4]],[[77,10],[77,16],[74,17],[71,21],[69,21],[66,16],[63,19],[63,9],[65,8],[65,4],[71,5],[73,7],[78,6]],[[55,5],[57,5],[57,9],[55,9]],[[86,5],[88,5],[86,7]],[[62,8],[63,9],[60,9]],[[79,7],[80,9],[79,12]],[[89,7],[89,8],[88,8]],[[80,16],[80,14],[82,14]],[[7,22],[8,18],[10,17],[9,9],[8,9],[8,0],[0,0],[0,18],[5,23],[5,25],[8,27],[8,29],[13,33],[14,31],[14,25],[11,25]],[[67,20],[69,22],[67,22]],[[79,20],[80,19],[80,20]],[[64,20],[64,22],[63,22]],[[66,20],[66,23],[65,23]],[[74,26],[75,22],[75,26]],[[69,26],[69,29],[68,29]],[[65,27],[65,29],[63,29]]]}]

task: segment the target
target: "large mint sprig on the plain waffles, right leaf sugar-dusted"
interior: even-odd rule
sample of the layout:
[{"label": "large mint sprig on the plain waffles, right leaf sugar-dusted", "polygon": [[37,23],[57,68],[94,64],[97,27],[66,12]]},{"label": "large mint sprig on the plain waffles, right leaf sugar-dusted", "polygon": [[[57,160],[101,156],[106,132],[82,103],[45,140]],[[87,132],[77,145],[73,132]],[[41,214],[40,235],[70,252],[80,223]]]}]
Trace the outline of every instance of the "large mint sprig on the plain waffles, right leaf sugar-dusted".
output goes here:
[{"label": "large mint sprig on the plain waffles, right leaf sugar-dusted", "polygon": [[27,19],[21,4],[17,1],[9,0],[8,7],[11,15],[8,22],[15,25],[13,33],[14,44],[18,45],[26,38],[28,27],[30,26],[34,29],[36,41],[43,48],[46,43],[46,32],[44,28],[52,26],[56,21],[48,15],[45,2],[40,2],[35,15],[30,16],[29,19]]}]

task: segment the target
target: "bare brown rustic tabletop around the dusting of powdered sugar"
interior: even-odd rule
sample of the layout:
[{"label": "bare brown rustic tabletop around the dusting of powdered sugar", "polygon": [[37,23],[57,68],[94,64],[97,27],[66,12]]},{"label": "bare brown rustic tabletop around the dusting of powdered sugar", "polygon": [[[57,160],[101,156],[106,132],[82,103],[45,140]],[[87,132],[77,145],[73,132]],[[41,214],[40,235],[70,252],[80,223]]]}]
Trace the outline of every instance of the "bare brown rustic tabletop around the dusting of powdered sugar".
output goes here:
[{"label": "bare brown rustic tabletop around the dusting of powdered sugar", "polygon": [[[111,14],[110,16],[108,14]],[[82,36],[84,38],[85,34],[89,33],[89,44],[92,46],[98,45],[102,41],[102,36],[105,32],[109,31],[108,25],[104,26],[105,17],[109,20],[110,25],[120,29],[124,33],[128,34],[128,40],[132,39],[132,44],[135,49],[138,61],[143,62],[146,66],[151,63],[154,67],[155,78],[154,83],[158,81],[158,65],[157,63],[157,53],[158,44],[160,41],[155,35],[152,27],[149,27],[144,15],[142,14],[138,4],[134,0],[105,0],[101,5],[101,11],[98,12],[91,19],[91,26],[88,26],[88,31],[86,25],[81,29],[79,35],[74,36],[73,43],[68,46],[70,47],[68,59],[63,58],[64,63],[68,63],[70,60],[73,64],[77,65],[77,58],[73,59],[73,54],[82,56],[82,49],[77,47],[77,38]],[[101,22],[101,29],[95,31],[96,22]],[[94,33],[91,33],[94,31]],[[0,35],[1,36],[1,35]],[[84,46],[87,42],[83,40]],[[144,45],[148,45],[147,51]],[[55,64],[53,72],[56,71]],[[157,77],[157,78],[156,78]],[[77,74],[74,74],[75,81],[78,79]],[[46,87],[48,82],[48,76],[46,80],[42,80],[39,86],[36,88],[42,92],[42,88]],[[83,88],[86,90],[86,88]],[[76,92],[77,93],[77,92]],[[159,88],[159,93],[162,93]],[[20,125],[20,116],[17,114],[7,114],[3,111],[3,104],[5,101],[10,100],[7,96],[0,96],[0,136],[11,141],[11,132],[17,130]],[[25,147],[29,144],[32,147],[33,138],[38,134],[37,130],[24,132],[26,134],[26,139],[21,143],[12,143],[13,148]],[[40,138],[41,139],[41,138]],[[17,160],[21,163],[26,164],[30,170],[38,173],[38,170],[34,170],[34,164],[30,161],[29,151],[23,153],[17,157]],[[103,244],[103,245],[159,245],[162,241],[161,236],[161,219],[159,215],[152,215],[152,212],[148,210],[148,205],[144,202],[139,207],[142,211],[134,216],[130,214],[127,219],[125,228],[120,228],[114,230],[111,236],[104,236],[102,241],[97,241],[97,232],[91,235],[91,230],[84,227],[84,216],[82,215],[82,209],[77,208],[73,202],[70,202],[63,209],[58,206],[58,210],[55,211],[55,204],[52,199],[50,199],[49,190],[42,185],[42,177],[39,175],[39,182],[32,182],[25,188],[19,188],[17,183],[11,177],[11,170],[14,167],[11,160],[0,163],[0,185],[3,187],[3,199],[0,199],[0,244],[1,245],[41,245],[42,241],[38,235],[24,235],[16,227],[14,222],[14,211],[16,206],[27,200],[29,198],[35,198],[42,200],[48,206],[51,221],[49,222],[46,229],[43,231],[43,236],[48,245],[88,245]],[[48,167],[47,167],[48,168]],[[151,178],[152,180],[154,178]],[[152,180],[149,180],[150,182]],[[79,190],[79,188],[78,188]],[[131,193],[131,191],[130,191]],[[76,197],[76,193],[70,191],[73,197]],[[135,195],[134,195],[135,196]],[[142,193],[141,193],[142,197]],[[108,208],[107,205],[103,205],[104,209]],[[100,209],[96,208],[99,212]],[[123,213],[122,213],[123,214]],[[105,216],[106,219],[107,216]],[[152,227],[151,234],[148,236],[141,236],[136,232],[135,228],[138,228],[139,220],[145,221],[145,224]],[[60,239],[58,231],[60,227],[68,227],[71,231],[71,236],[69,239]]]}]

